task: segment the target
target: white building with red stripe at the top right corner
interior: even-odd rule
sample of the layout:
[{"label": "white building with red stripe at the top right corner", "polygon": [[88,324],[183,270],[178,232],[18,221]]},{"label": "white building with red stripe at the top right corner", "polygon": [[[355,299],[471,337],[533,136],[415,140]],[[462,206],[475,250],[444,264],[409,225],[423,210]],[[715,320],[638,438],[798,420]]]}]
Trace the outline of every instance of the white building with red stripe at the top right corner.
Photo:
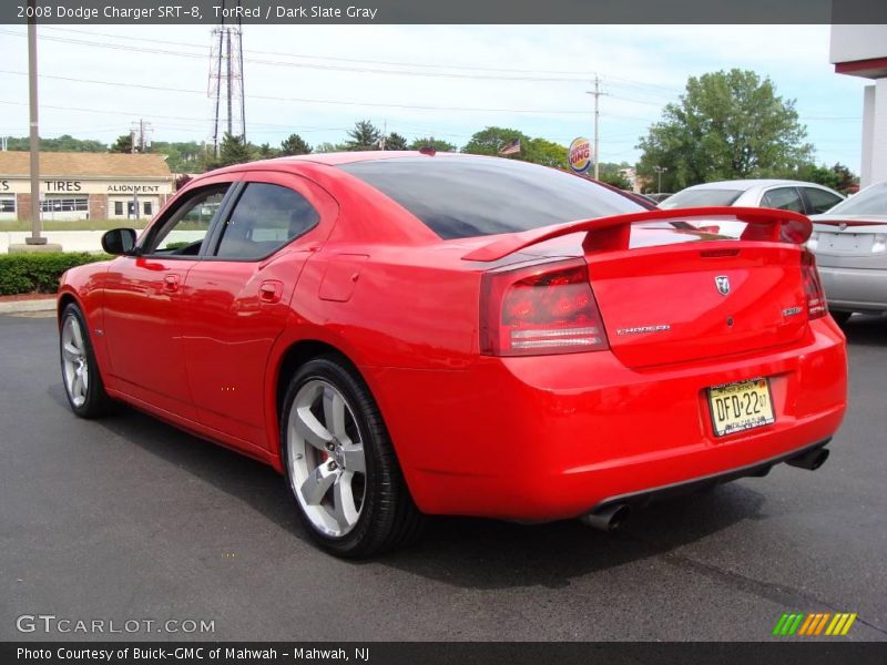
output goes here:
[{"label": "white building with red stripe at the top right corner", "polygon": [[859,184],[887,181],[887,25],[832,25],[829,61],[839,74],[875,82],[863,93]]}]

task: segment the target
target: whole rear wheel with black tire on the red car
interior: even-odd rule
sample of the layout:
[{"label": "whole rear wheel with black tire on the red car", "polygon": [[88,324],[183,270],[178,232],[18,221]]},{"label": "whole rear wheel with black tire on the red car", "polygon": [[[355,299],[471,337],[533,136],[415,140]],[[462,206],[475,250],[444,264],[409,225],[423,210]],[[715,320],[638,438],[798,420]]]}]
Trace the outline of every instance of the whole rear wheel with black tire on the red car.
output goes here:
[{"label": "whole rear wheel with black tire on the red car", "polygon": [[281,441],[299,518],[324,550],[366,557],[418,538],[422,515],[381,413],[347,361],[323,356],[296,371],[284,398]]}]

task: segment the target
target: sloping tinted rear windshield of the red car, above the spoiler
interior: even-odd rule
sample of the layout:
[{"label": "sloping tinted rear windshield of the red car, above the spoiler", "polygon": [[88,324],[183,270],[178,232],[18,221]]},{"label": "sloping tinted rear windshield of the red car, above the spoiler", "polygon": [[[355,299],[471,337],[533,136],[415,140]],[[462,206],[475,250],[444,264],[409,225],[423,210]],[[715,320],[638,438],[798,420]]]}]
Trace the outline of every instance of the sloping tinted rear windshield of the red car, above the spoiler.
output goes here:
[{"label": "sloping tinted rear windshield of the red car, above the spoiler", "polygon": [[340,167],[399,203],[443,239],[645,209],[583,177],[517,160],[402,157]]}]

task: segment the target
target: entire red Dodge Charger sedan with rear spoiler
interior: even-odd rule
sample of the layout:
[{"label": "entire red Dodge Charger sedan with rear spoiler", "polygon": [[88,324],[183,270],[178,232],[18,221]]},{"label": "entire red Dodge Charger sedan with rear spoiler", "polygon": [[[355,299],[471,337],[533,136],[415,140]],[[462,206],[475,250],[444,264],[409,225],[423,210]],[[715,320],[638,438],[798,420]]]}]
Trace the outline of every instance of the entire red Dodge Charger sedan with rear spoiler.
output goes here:
[{"label": "entire red Dodge Charger sedan with rear spoiler", "polygon": [[338,555],[409,542],[424,514],[611,529],[655,497],[815,469],[844,417],[809,221],[683,223],[732,211],[675,224],[430,151],[223,168],[63,276],[64,390],[78,416],[120,400],[271,464]]}]

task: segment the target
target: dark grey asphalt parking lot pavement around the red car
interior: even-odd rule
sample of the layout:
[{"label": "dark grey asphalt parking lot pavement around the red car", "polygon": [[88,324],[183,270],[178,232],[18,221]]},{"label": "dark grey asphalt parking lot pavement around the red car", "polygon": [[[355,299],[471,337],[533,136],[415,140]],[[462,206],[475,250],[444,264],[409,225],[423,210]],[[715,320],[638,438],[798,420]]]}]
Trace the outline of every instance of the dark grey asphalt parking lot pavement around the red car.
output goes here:
[{"label": "dark grey asphalt parking lot pavement around the red car", "polygon": [[[858,319],[858,320],[857,320]],[[78,420],[54,321],[0,317],[0,640],[16,617],[206,620],[212,640],[773,640],[783,612],[887,638],[887,319],[848,326],[852,407],[817,472],[663,502],[615,535],[436,520],[410,550],[317,551],[271,469],[132,410]],[[154,628],[156,630],[156,628]]]}]

